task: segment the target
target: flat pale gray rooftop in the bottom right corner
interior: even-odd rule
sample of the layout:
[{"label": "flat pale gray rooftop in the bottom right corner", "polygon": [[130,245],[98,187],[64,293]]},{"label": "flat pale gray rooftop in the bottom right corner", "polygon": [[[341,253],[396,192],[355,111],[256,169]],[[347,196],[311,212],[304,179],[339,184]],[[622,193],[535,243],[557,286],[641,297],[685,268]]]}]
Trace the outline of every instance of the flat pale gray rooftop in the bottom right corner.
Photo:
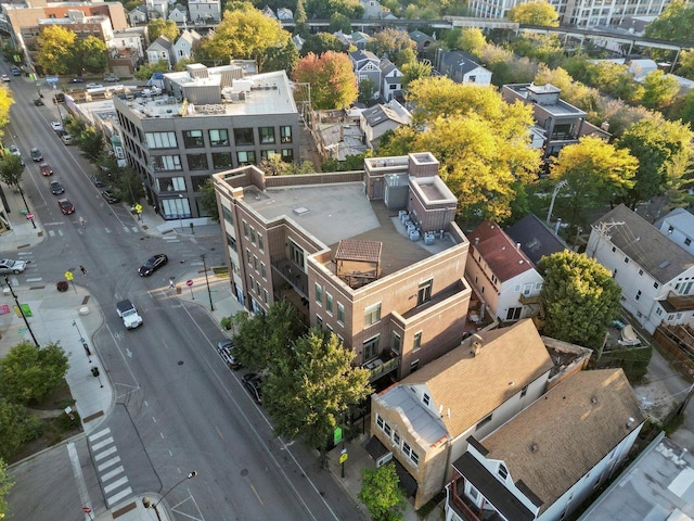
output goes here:
[{"label": "flat pale gray rooftop in the bottom right corner", "polygon": [[694,519],[692,475],[692,453],[661,432],[578,521],[643,521],[652,512],[661,519]]}]

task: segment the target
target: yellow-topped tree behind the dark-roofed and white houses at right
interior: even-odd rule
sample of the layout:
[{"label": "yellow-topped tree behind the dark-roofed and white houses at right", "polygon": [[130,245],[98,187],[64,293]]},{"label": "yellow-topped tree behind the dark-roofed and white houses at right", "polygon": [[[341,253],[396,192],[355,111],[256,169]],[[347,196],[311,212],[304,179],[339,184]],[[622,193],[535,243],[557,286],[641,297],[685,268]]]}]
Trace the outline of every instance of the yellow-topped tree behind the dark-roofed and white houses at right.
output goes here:
[{"label": "yellow-topped tree behind the dark-roofed and white houses at right", "polygon": [[566,181],[571,224],[588,226],[590,211],[619,201],[633,188],[639,160],[626,149],[586,136],[552,157],[550,178]]}]

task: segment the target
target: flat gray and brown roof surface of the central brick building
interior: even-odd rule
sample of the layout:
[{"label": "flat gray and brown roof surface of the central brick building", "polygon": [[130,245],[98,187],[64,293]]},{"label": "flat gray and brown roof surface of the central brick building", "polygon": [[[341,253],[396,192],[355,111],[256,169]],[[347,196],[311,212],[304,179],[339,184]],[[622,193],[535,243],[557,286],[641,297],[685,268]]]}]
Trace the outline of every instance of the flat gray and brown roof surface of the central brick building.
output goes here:
[{"label": "flat gray and brown roof surface of the central brick building", "polygon": [[[383,244],[381,278],[436,255],[455,245],[449,234],[426,245],[406,234],[398,211],[383,201],[369,201],[361,182],[270,188],[265,192],[244,188],[244,202],[266,219],[286,216],[332,250],[344,239],[377,241]],[[334,274],[334,263],[326,265]]]}]

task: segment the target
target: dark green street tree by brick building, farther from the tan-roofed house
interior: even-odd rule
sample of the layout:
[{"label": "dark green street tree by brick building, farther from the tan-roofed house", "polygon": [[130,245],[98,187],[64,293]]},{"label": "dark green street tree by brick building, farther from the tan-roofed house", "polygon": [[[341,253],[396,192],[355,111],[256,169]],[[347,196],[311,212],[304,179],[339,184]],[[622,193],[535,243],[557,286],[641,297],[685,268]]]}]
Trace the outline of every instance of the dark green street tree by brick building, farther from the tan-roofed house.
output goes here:
[{"label": "dark green street tree by brick building, farther from the tan-roofed house", "polygon": [[234,356],[252,371],[261,372],[285,356],[288,346],[306,328],[287,301],[274,303],[268,313],[253,317],[241,312],[233,317]]}]

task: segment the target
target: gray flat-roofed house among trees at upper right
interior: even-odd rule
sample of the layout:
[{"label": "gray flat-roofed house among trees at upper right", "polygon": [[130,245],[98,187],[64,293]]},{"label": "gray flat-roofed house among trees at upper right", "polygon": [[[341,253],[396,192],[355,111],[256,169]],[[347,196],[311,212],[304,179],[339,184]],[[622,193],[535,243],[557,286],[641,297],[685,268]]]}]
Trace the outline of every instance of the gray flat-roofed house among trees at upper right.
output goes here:
[{"label": "gray flat-roofed house among trees at upper right", "polygon": [[591,135],[608,140],[608,125],[597,128],[587,120],[586,112],[561,99],[562,90],[553,85],[512,84],[501,88],[504,101],[530,103],[536,128],[544,135],[547,160],[557,155],[567,144],[577,143],[582,136]]}]

